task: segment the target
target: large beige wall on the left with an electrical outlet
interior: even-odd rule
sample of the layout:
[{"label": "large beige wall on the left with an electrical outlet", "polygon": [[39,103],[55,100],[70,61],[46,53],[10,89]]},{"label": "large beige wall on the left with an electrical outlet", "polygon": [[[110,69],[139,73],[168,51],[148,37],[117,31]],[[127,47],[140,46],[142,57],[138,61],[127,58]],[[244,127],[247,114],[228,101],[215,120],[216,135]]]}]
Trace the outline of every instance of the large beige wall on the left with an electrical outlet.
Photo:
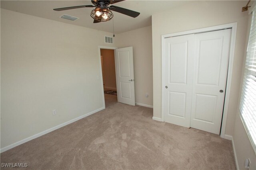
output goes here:
[{"label": "large beige wall on the left with an electrical outlet", "polygon": [[1,9],[1,148],[103,107],[104,35]]}]

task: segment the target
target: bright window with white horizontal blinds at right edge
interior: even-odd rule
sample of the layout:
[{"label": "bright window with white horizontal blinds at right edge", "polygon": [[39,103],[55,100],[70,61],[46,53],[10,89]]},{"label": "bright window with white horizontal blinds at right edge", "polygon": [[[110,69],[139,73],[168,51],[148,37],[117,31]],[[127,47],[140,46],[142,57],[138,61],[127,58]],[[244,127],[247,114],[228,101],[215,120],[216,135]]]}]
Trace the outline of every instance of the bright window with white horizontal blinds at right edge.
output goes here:
[{"label": "bright window with white horizontal blinds at right edge", "polygon": [[240,113],[250,141],[256,150],[256,8],[252,14],[245,64]]}]

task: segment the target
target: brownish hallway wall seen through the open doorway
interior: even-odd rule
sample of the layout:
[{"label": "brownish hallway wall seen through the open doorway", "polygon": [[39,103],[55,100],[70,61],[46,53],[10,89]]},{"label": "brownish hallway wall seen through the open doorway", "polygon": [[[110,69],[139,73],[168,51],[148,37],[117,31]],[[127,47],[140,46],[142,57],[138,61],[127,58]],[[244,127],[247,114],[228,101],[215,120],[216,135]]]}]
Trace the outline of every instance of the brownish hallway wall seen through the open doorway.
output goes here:
[{"label": "brownish hallway wall seen through the open doorway", "polygon": [[103,60],[103,80],[105,88],[116,89],[115,54],[112,49],[100,49]]}]

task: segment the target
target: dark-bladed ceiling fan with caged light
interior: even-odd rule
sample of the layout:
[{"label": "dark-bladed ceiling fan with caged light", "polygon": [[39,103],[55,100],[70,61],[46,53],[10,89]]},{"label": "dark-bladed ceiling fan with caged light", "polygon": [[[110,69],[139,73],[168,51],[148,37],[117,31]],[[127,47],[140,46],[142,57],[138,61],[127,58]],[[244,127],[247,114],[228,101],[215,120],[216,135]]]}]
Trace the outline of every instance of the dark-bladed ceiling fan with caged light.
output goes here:
[{"label": "dark-bladed ceiling fan with caged light", "polygon": [[[124,0],[92,0],[92,4],[94,5],[81,5],[81,6],[70,6],[64,8],[55,8],[55,11],[64,11],[64,10],[71,10],[76,8],[90,8],[96,7],[94,10],[91,11],[90,16],[94,19],[93,23],[99,23],[102,21],[109,21],[113,18],[112,11],[119,12],[121,14],[136,18],[140,15],[139,12],[128,10],[126,8],[121,8],[118,6],[108,6],[109,4],[115,4],[117,2],[121,2]],[[112,10],[112,11],[111,11]]]}]

